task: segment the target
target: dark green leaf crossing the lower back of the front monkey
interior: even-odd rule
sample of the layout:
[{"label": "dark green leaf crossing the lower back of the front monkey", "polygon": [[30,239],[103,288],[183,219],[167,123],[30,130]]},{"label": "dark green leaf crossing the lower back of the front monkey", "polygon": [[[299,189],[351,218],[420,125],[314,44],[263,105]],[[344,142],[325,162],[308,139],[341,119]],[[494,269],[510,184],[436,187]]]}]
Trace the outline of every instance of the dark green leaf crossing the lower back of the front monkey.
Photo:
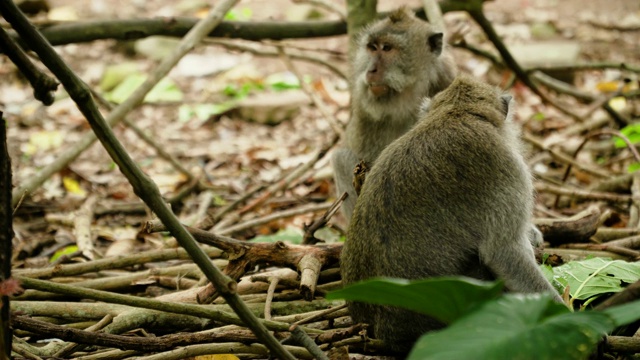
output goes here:
[{"label": "dark green leaf crossing the lower back of the front monkey", "polygon": [[327,294],[328,300],[345,299],[398,306],[451,323],[479,304],[502,292],[500,282],[464,277],[440,277],[417,281],[374,278]]}]

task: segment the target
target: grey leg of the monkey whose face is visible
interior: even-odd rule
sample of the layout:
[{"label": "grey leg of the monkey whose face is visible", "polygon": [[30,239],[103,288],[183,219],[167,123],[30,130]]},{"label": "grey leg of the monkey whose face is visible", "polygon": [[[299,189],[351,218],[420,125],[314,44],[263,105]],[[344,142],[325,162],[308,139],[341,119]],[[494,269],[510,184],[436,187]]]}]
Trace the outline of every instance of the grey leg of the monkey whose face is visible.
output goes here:
[{"label": "grey leg of the monkey whose face is visible", "polygon": [[336,192],[341,196],[347,192],[349,196],[342,203],[342,214],[347,220],[347,225],[351,222],[351,214],[356,206],[358,194],[353,186],[353,169],[360,162],[356,154],[347,148],[337,149],[331,156],[333,165],[333,176],[335,178]]}]

